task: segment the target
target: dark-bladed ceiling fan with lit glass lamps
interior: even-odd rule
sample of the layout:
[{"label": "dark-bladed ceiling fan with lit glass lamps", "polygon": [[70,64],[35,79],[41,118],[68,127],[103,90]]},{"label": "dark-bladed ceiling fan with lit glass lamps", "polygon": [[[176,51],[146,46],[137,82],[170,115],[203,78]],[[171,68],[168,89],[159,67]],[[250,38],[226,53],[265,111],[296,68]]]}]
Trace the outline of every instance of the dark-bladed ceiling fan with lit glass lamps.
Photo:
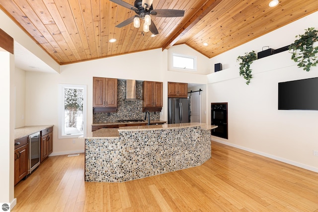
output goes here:
[{"label": "dark-bladed ceiling fan with lit glass lamps", "polygon": [[137,15],[124,20],[116,27],[121,28],[134,22],[134,27],[140,27],[140,19],[144,20],[144,32],[151,31],[153,35],[159,34],[158,29],[151,19],[151,15],[156,17],[182,17],[184,15],[184,10],[180,9],[154,9],[153,0],[135,0],[134,5],[131,5],[123,0],[110,0],[114,3],[117,3],[123,7],[131,9],[137,13]]}]

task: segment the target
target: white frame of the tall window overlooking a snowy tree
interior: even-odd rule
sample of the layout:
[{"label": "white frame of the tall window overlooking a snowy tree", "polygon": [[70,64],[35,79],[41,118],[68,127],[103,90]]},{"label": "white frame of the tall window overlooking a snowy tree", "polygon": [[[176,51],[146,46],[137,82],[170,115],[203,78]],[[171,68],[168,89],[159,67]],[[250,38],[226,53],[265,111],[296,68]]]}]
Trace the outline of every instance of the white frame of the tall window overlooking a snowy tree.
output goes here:
[{"label": "white frame of the tall window overlooking a snowy tree", "polygon": [[[64,107],[64,90],[65,88],[82,88],[83,89],[83,133],[82,134],[72,134],[65,135],[64,134],[64,125],[65,125],[65,107]],[[79,138],[80,136],[86,136],[86,114],[87,114],[87,86],[86,85],[78,85],[78,84],[59,84],[59,127],[58,127],[58,138],[59,139],[70,139],[70,138]]]}]

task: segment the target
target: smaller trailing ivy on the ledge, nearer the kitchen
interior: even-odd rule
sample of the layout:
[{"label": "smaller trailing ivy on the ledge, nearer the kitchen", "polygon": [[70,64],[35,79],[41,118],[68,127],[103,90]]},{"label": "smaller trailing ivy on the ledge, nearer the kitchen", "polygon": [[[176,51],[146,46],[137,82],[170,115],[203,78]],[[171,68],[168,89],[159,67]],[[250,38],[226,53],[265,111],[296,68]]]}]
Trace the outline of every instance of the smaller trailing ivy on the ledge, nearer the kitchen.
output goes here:
[{"label": "smaller trailing ivy on the ledge, nearer the kitchen", "polygon": [[243,76],[246,79],[246,84],[248,85],[250,79],[252,78],[252,70],[249,69],[249,66],[253,63],[254,60],[257,60],[257,56],[254,51],[249,53],[245,53],[244,56],[239,56],[237,61],[241,61],[239,63],[239,75]]}]

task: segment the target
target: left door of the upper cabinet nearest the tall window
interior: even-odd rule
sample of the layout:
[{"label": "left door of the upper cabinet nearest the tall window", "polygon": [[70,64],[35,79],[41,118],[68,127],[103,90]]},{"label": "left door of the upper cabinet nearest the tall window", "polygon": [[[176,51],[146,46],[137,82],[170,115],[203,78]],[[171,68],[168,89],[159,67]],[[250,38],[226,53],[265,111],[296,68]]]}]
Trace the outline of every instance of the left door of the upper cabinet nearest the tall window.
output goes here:
[{"label": "left door of the upper cabinet nearest the tall window", "polygon": [[93,107],[106,106],[106,79],[93,77]]}]

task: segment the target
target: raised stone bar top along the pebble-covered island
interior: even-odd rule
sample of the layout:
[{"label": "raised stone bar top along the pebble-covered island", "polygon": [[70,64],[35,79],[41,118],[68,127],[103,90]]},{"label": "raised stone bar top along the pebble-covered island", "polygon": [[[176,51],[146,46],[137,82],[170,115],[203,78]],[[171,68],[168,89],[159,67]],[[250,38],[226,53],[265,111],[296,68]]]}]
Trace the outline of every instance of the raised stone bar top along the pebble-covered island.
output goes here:
[{"label": "raised stone bar top along the pebble-covered island", "polygon": [[201,127],[202,130],[211,130],[211,129],[217,128],[217,126],[214,126],[214,125],[207,125],[207,124],[201,124],[201,123],[181,123],[181,124],[120,127],[118,131],[123,132],[123,131],[169,130],[169,129],[180,129],[180,128],[188,128],[188,127]]}]

